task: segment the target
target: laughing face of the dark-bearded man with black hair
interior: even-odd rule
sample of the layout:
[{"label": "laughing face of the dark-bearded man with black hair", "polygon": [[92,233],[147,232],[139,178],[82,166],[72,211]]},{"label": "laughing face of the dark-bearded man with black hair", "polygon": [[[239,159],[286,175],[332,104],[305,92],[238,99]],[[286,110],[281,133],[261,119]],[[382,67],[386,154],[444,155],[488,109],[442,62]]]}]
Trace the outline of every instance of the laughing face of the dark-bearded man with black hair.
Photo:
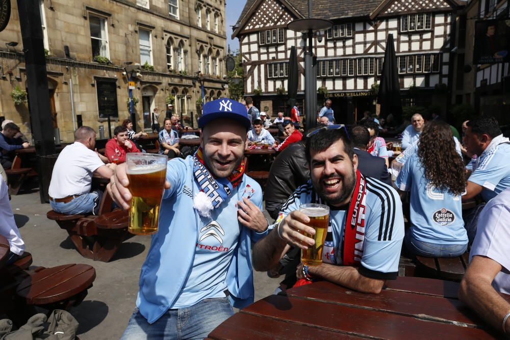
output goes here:
[{"label": "laughing face of the dark-bearded man with black hair", "polygon": [[349,202],[354,190],[358,156],[352,161],[345,152],[344,143],[337,140],[325,150],[310,154],[310,175],[315,191],[334,206]]}]

